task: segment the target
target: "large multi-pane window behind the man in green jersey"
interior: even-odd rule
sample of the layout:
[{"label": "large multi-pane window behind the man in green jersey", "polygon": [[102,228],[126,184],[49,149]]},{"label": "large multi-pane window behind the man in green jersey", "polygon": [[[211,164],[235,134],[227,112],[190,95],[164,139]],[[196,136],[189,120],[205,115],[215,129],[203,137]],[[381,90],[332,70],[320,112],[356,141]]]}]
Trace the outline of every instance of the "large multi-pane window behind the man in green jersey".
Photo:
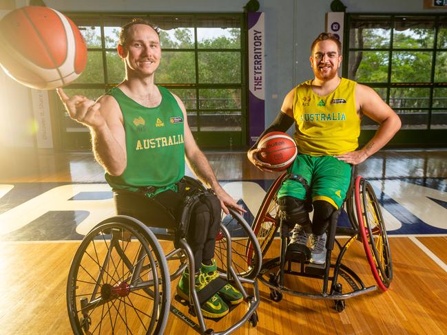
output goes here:
[{"label": "large multi-pane window behind the man in green jersey", "polygon": [[[242,14],[65,14],[78,25],[88,47],[87,67],[67,87],[68,94],[96,99],[123,80],[118,34],[122,25],[141,17],[160,28],[163,54],[155,82],[183,100],[200,147],[245,145]],[[66,114],[60,124],[65,149],[90,147],[85,127]]]}]

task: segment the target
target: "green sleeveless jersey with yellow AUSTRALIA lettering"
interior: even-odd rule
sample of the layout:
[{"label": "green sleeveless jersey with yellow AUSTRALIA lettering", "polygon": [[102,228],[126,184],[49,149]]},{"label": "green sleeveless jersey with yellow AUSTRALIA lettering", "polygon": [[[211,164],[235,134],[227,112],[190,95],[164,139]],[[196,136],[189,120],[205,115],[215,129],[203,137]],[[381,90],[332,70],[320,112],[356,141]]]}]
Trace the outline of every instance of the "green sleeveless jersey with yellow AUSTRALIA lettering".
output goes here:
[{"label": "green sleeveless jersey with yellow AUSTRALIA lettering", "polygon": [[157,186],[156,193],[169,188],[176,191],[176,182],[185,175],[183,112],[165,87],[158,89],[161,102],[153,108],[138,104],[118,87],[107,93],[123,113],[127,151],[123,174],[105,173],[114,189],[137,191],[139,187]]}]

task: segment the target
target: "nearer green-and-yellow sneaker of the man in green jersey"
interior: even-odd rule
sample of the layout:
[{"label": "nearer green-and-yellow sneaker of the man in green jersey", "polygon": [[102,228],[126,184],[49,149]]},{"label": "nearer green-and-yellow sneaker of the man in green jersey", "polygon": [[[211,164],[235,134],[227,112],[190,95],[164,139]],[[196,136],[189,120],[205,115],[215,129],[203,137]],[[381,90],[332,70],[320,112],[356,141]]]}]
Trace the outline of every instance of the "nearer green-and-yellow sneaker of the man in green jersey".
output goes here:
[{"label": "nearer green-and-yellow sneaker of the man in green jersey", "polygon": [[[195,276],[196,279],[196,291],[200,291],[209,283],[205,280],[205,274],[200,272]],[[182,277],[178,281],[177,285],[177,294],[186,301],[189,301],[189,273],[185,270],[183,271]],[[207,318],[221,318],[225,316],[229,312],[229,307],[225,303],[225,301],[218,296],[218,294],[214,294],[210,299],[202,303],[200,306],[200,310],[202,310],[203,316]]]}]

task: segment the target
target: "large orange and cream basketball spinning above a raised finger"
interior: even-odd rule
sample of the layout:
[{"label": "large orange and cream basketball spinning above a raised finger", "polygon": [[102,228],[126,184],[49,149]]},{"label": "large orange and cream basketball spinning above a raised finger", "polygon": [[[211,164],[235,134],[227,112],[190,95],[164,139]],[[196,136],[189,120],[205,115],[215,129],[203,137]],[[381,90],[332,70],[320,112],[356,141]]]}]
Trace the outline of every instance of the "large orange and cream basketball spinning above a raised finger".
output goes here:
[{"label": "large orange and cream basketball spinning above a raised finger", "polygon": [[48,7],[13,10],[0,21],[0,65],[19,83],[54,89],[78,78],[87,64],[81,32]]}]

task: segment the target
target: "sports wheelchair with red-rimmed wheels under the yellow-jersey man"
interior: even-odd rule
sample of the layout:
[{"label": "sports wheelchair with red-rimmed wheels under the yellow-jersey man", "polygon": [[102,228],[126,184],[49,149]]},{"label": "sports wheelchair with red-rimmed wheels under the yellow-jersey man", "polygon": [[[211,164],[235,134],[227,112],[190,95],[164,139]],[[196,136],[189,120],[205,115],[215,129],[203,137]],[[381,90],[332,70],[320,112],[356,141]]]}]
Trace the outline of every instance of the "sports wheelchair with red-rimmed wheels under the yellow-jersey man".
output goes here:
[{"label": "sports wheelchair with red-rimmed wheels under the yellow-jersey man", "polygon": [[[384,219],[373,187],[363,177],[355,177],[356,174],[353,166],[345,202],[340,210],[331,215],[326,239],[326,262],[322,265],[310,263],[309,255],[304,255],[304,252],[287,252],[289,228],[282,223],[276,200],[282,183],[294,176],[282,173],[267,191],[252,228],[258,238],[262,257],[267,255],[278,230],[280,233],[280,257],[264,259],[258,277],[270,288],[273,301],[279,302],[282,292],[304,298],[331,299],[335,302],[335,310],[341,312],[345,308],[345,299],[376,290],[377,286],[382,291],[388,289],[393,279],[393,265]],[[335,239],[336,236],[347,237],[347,240],[342,244]],[[342,263],[342,258],[355,240],[363,244],[377,286],[365,287],[360,277]],[[340,250],[335,263],[331,259],[334,244]],[[254,247],[247,244],[247,258],[254,255]],[[287,288],[284,285],[285,274],[322,279],[322,290],[309,293]],[[342,281],[347,285],[343,286]]]}]

